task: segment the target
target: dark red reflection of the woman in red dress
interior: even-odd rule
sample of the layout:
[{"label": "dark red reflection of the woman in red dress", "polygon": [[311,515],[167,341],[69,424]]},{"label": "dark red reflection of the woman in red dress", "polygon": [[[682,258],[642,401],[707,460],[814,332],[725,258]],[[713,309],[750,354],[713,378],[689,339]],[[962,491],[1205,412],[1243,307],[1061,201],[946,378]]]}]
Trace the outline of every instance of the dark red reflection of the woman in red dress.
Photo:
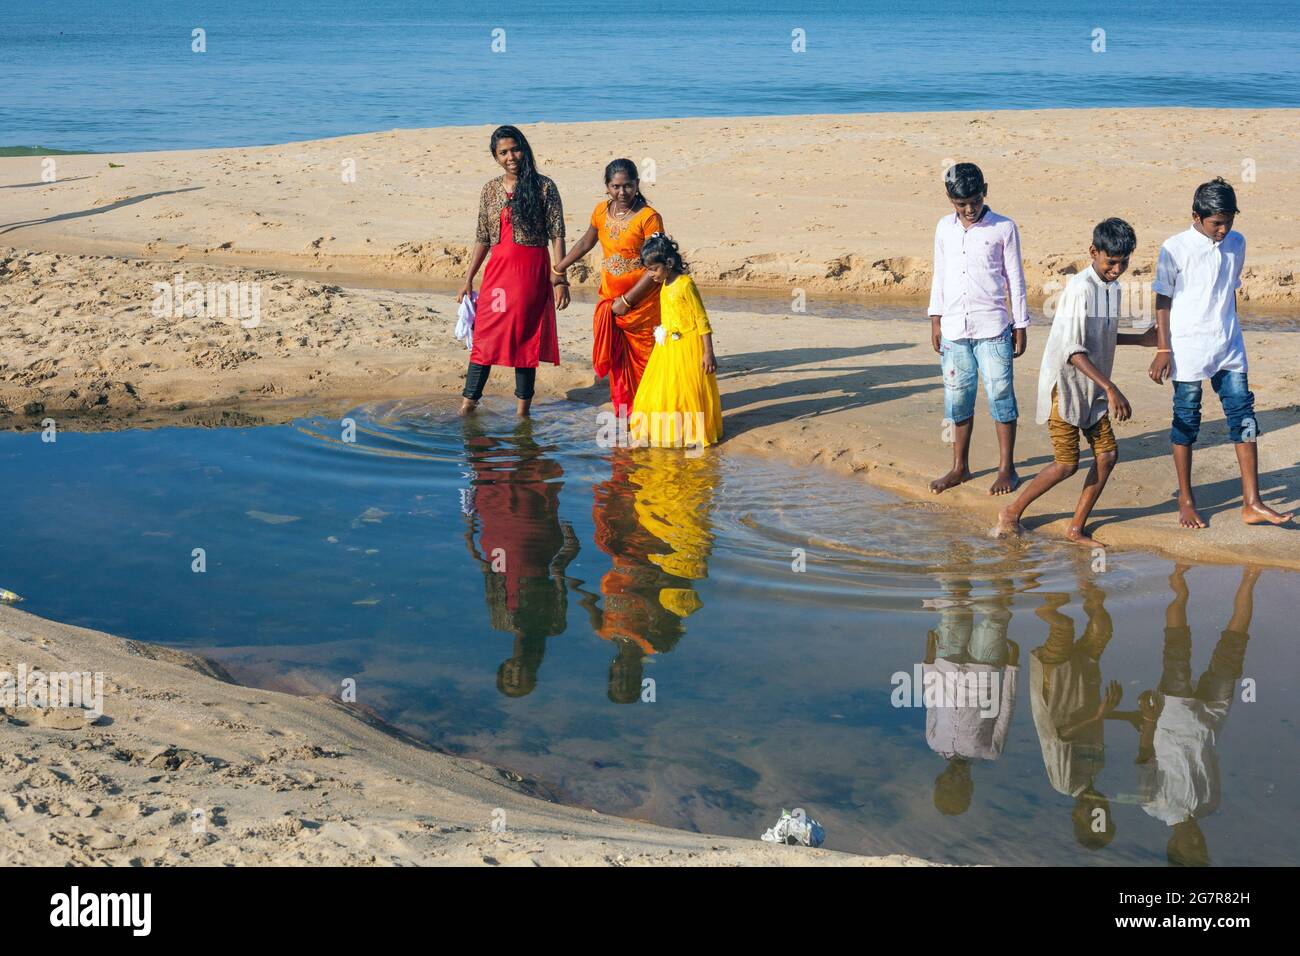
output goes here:
[{"label": "dark red reflection of the woman in red dress", "polygon": [[[559,516],[564,470],[546,458],[521,423],[511,438],[465,425],[473,480],[464,493],[465,545],[484,572],[489,623],[515,635],[515,652],[497,671],[497,689],[523,697],[537,687],[546,639],[564,632],[577,535]],[[477,544],[474,535],[477,532]]]}]

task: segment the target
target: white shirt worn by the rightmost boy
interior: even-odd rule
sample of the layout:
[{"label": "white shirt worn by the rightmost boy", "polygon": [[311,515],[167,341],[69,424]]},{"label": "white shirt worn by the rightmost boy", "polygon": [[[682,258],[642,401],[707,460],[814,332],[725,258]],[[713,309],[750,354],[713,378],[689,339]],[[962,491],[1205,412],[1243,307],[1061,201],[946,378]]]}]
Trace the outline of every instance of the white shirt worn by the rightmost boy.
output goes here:
[{"label": "white shirt worn by the rightmost boy", "polygon": [[1201,381],[1223,369],[1245,371],[1245,341],[1236,317],[1236,290],[1245,265],[1245,237],[1222,242],[1195,226],[1165,239],[1150,287],[1173,299],[1169,346],[1174,381]]}]

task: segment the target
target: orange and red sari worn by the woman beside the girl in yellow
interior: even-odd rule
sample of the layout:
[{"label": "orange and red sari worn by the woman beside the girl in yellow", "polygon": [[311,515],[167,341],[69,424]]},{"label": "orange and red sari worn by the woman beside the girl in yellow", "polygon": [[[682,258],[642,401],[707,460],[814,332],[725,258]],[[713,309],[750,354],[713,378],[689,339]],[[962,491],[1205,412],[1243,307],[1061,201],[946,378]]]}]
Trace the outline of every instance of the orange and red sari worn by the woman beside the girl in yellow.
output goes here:
[{"label": "orange and red sari worn by the woman beside the girl in yellow", "polygon": [[659,297],[645,297],[627,315],[614,315],[610,300],[630,290],[645,274],[641,246],[653,233],[663,232],[663,219],[650,206],[642,206],[627,219],[614,219],[608,211],[608,203],[602,202],[592,212],[592,226],[601,237],[601,252],[604,255],[592,364],[598,376],[610,377],[610,399],[615,411],[629,411],[654,349]]}]

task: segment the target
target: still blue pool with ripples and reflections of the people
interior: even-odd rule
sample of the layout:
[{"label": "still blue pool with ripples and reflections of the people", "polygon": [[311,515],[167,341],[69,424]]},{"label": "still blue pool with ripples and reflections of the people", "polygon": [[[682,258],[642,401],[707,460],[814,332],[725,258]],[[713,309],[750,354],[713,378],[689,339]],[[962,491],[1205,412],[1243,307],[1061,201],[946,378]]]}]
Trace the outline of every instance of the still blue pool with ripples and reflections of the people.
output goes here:
[{"label": "still blue pool with ripples and reflections of the people", "polygon": [[[831,848],[963,864],[1300,858],[1296,575],[1101,570],[725,446],[601,449],[586,406],[536,415],[0,434],[0,587],[246,683],[355,680],[433,747],[659,823],[757,838],[802,808]],[[927,708],[928,672],[996,701]]]}]

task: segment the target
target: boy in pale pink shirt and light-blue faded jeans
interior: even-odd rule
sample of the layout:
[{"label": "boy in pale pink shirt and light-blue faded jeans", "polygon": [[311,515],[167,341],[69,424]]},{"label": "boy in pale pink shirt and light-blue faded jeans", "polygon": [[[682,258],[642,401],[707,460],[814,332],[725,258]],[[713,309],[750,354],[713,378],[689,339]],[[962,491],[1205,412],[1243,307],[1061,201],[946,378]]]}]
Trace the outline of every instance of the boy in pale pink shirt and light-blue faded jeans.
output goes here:
[{"label": "boy in pale pink shirt and light-blue faded jeans", "polygon": [[944,173],[953,212],[935,228],[930,338],[944,372],[944,421],[953,434],[953,468],[930,483],[935,494],[971,480],[975,393],[984,380],[997,427],[998,466],[989,494],[1009,494],[1015,473],[1015,382],[1011,362],[1024,354],[1030,311],[1015,222],[984,203],[988,183],[974,163]]}]

